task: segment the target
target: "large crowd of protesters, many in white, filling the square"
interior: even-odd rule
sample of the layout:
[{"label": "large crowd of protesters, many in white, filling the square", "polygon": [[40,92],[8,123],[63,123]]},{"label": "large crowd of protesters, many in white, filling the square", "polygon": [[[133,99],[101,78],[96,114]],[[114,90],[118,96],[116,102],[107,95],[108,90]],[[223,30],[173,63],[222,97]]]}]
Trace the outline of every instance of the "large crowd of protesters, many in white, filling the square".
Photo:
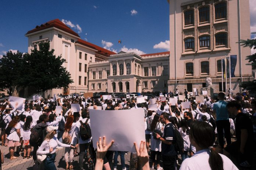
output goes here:
[{"label": "large crowd of protesters, many in white, filling the square", "polygon": [[[11,108],[10,102],[3,100],[0,101],[1,145],[9,147],[11,160],[17,159],[19,152],[23,152],[23,159],[33,157],[35,169],[56,169],[56,149],[64,147],[66,170],[82,170],[84,163],[90,170],[117,170],[118,155],[122,169],[126,170],[124,155],[127,152],[108,150],[115,142],[106,144],[106,138],[111,136],[99,138],[97,147],[93,146],[89,111],[91,106],[102,110],[143,108],[145,141],[139,146],[134,143],[136,153],[131,153],[131,170],[255,167],[256,100],[248,93],[225,97],[220,92],[217,100],[206,96],[198,102],[195,97],[188,97],[186,90],[185,95],[184,101],[191,102],[190,108],[183,108],[181,100],[172,106],[168,97],[167,100],[156,97],[156,103],[148,99],[138,103],[135,98],[104,100],[101,96],[24,100],[19,111],[19,103]],[[79,104],[79,112],[71,109],[72,103]],[[149,109],[152,104],[156,104],[156,109]],[[60,114],[56,106],[62,107]],[[4,163],[1,151],[0,154]],[[76,167],[72,164],[74,156],[79,156]]]}]

